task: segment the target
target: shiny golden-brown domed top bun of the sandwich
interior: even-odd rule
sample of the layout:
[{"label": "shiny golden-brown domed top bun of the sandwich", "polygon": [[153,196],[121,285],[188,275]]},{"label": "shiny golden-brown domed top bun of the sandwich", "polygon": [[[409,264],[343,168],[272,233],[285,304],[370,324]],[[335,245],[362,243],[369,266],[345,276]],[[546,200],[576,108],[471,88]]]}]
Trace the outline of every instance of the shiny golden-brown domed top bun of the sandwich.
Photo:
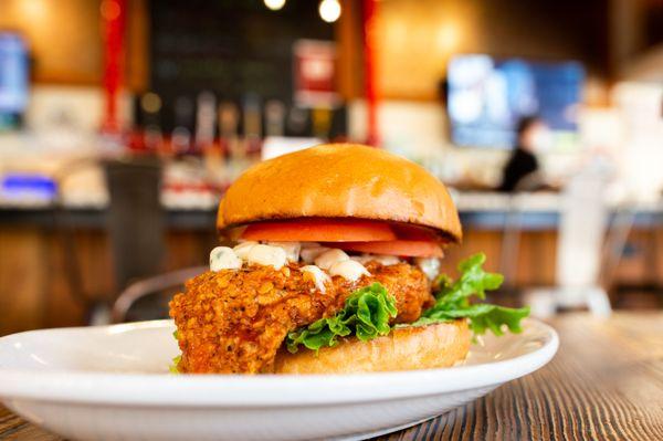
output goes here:
[{"label": "shiny golden-brown domed top bun of the sandwich", "polygon": [[442,182],[412,161],[356,144],[325,144],[256,164],[225,192],[217,227],[297,218],[404,222],[462,239]]}]

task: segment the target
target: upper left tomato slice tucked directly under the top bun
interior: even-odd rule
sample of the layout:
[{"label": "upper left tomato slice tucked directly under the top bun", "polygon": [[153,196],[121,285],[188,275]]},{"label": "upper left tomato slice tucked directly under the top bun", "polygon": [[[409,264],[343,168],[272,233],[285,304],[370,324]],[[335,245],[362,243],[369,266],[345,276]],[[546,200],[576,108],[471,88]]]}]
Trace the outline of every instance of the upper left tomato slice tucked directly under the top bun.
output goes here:
[{"label": "upper left tomato slice tucked directly under the top bun", "polygon": [[242,239],[274,242],[393,241],[388,223],[361,219],[296,219],[250,223]]}]

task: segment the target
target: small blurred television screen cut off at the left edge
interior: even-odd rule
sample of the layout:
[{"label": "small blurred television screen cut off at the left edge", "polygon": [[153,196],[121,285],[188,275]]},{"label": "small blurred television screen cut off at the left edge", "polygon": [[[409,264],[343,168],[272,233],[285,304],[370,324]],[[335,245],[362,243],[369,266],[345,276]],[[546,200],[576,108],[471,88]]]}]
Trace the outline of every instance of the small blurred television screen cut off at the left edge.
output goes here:
[{"label": "small blurred television screen cut off at the left edge", "polygon": [[17,33],[0,32],[0,116],[28,105],[28,46]]}]

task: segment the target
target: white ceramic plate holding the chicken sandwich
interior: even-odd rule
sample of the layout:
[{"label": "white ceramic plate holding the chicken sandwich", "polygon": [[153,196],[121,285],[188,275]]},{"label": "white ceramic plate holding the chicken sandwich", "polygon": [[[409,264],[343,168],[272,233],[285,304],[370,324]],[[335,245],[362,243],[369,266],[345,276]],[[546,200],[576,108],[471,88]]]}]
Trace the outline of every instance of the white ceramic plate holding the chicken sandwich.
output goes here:
[{"label": "white ceramic plate holding the chicken sandwich", "polygon": [[168,374],[170,321],[0,338],[0,398],[74,440],[364,439],[436,417],[548,363],[549,326],[486,336],[463,366],[345,376]]}]

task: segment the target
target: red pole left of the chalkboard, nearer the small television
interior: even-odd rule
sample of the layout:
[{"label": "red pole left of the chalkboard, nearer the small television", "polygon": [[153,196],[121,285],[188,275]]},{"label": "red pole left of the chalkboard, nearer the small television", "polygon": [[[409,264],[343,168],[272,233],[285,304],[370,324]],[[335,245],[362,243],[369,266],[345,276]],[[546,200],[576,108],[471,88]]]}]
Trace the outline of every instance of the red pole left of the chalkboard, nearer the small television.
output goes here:
[{"label": "red pole left of the chalkboard, nearer the small television", "polygon": [[123,84],[124,27],[126,0],[103,0],[101,6],[104,32],[104,91],[106,113],[102,128],[119,132],[117,119],[117,94]]}]

